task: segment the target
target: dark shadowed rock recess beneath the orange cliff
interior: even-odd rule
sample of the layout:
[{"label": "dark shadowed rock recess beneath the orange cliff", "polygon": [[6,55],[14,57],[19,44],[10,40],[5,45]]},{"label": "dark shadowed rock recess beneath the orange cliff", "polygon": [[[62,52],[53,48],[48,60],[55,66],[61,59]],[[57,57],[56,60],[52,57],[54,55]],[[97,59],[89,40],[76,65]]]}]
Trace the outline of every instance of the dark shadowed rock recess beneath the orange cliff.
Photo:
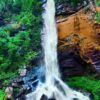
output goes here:
[{"label": "dark shadowed rock recess beneath the orange cliff", "polygon": [[87,64],[74,52],[65,51],[59,53],[59,64],[62,75],[73,76],[84,74]]}]

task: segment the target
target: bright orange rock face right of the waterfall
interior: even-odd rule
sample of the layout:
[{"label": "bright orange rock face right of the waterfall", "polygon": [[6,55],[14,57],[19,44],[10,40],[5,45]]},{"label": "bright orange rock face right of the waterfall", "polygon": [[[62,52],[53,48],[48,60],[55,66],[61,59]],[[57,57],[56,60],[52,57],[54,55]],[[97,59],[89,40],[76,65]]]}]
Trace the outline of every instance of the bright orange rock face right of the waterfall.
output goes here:
[{"label": "bright orange rock face right of the waterfall", "polygon": [[[100,7],[97,7],[97,10],[100,11]],[[100,25],[95,23],[93,13],[90,10],[80,10],[69,17],[59,17],[57,28],[58,48],[63,50],[67,45],[75,46],[78,44],[80,56],[87,62],[92,63],[93,50],[100,50]],[[73,34],[78,38],[72,36]]]}]

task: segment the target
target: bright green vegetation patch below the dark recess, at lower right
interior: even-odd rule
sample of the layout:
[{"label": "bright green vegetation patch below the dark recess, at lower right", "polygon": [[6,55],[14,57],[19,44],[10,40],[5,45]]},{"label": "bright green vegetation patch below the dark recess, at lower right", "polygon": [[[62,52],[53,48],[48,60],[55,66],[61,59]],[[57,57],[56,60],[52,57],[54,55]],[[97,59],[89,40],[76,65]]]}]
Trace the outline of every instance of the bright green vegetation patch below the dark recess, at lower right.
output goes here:
[{"label": "bright green vegetation patch below the dark recess, at lower right", "polygon": [[100,100],[100,80],[89,76],[78,76],[67,79],[70,87],[76,87],[91,92],[93,100]]}]

